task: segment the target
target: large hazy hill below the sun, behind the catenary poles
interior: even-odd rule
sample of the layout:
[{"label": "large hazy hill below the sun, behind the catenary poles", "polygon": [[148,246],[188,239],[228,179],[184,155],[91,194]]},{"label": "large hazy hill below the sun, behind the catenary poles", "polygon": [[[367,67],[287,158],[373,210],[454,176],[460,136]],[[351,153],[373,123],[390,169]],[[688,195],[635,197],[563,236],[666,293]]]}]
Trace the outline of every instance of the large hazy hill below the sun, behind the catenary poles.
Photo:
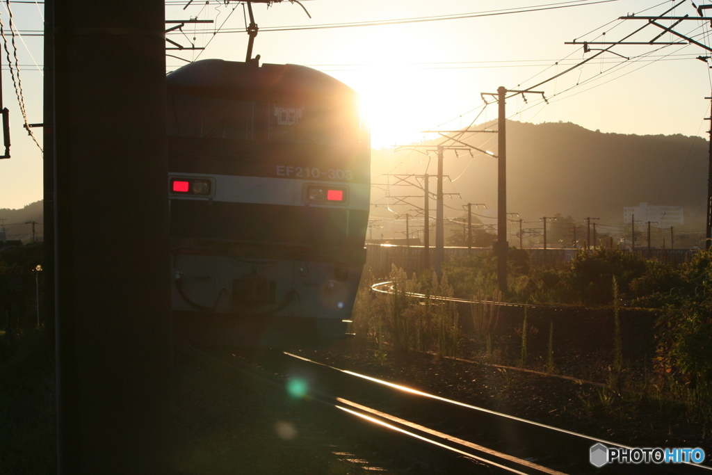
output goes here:
[{"label": "large hazy hill below the sun, behind the catenary poles", "polygon": [[[472,128],[496,129],[496,122]],[[624,207],[647,202],[684,207],[681,229],[704,228],[708,142],[701,137],[602,133],[570,122],[508,121],[507,132],[508,211],[519,213],[525,221],[562,214],[577,223],[592,216],[600,218],[600,224],[622,226]],[[498,153],[497,134],[468,134],[459,140]],[[438,142],[442,140],[418,145],[434,147]],[[460,151],[458,158],[446,152],[444,174],[457,179],[446,183],[444,190],[462,197],[451,204],[459,211],[446,209],[446,216],[460,216],[461,203],[497,207],[497,160],[475,153],[471,159],[467,152]],[[372,168],[374,175],[423,173],[428,161],[429,173],[436,173],[434,152],[428,159],[412,149],[379,150],[374,152]],[[431,191],[434,184],[431,180]],[[392,189],[391,194],[414,194],[415,190],[403,191]],[[375,189],[374,198],[382,194]]]}]

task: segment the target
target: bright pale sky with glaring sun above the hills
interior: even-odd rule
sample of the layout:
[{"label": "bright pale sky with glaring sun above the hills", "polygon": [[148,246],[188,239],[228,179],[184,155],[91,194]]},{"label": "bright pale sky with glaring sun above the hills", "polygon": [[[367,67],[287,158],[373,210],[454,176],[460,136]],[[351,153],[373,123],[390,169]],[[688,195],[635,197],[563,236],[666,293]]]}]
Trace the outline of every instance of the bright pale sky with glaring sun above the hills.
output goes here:
[{"label": "bright pale sky with glaring sun above the hills", "polygon": [[[188,3],[167,0],[167,19],[193,17],[216,23],[187,25],[184,35],[169,36],[183,46],[194,41],[207,47],[167,51],[183,58],[168,57],[168,70],[198,57],[244,61],[243,6],[201,0],[183,9]],[[298,4],[285,1],[270,8],[258,4],[253,6],[260,27],[254,53],[263,63],[311,66],[355,88],[369,116],[372,145],[387,147],[421,140],[422,130],[460,128],[475,119],[480,123],[496,118],[495,105],[477,118],[481,93],[494,93],[501,85],[510,89],[536,85],[598,53],[584,53],[581,45],[565,41],[618,41],[646,24],[619,21],[619,16],[659,15],[674,4],[681,5],[671,15],[697,15],[690,1],[669,0],[303,0],[311,19]],[[16,46],[27,120],[42,122],[42,37],[31,34],[41,33],[43,4],[30,0],[11,3],[11,8],[22,33]],[[508,13],[514,11],[519,13]],[[315,28],[441,16],[464,18]],[[10,41],[6,4],[0,7],[0,19]],[[213,35],[216,28],[220,33]],[[277,28],[286,31],[269,31]],[[701,21],[685,21],[675,30],[710,43],[710,26]],[[647,26],[629,41],[650,41],[662,32]],[[658,41],[677,38],[665,33]],[[12,53],[11,43],[8,47]],[[712,80],[709,68],[695,59],[705,54],[701,46],[615,46],[612,51],[630,59],[603,53],[537,87],[549,105],[537,95],[530,95],[528,104],[513,98],[508,115],[525,122],[575,122],[602,132],[706,137],[703,118],[710,113],[704,98],[710,95]],[[0,208],[14,209],[42,198],[42,156],[23,130],[5,55],[2,63],[3,100],[12,118],[12,158],[0,160]],[[41,144],[41,128],[33,131]]]}]

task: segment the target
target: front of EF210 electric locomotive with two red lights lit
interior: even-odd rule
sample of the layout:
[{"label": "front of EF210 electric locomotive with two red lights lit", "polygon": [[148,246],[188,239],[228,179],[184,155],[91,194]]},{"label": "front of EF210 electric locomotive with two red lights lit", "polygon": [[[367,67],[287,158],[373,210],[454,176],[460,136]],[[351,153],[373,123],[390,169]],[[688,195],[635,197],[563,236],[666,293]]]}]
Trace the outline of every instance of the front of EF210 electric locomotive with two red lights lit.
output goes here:
[{"label": "front of EF210 electric locomotive with two red lights lit", "polygon": [[365,262],[370,143],[355,91],[304,66],[167,75],[174,332],[308,348],[347,335]]}]

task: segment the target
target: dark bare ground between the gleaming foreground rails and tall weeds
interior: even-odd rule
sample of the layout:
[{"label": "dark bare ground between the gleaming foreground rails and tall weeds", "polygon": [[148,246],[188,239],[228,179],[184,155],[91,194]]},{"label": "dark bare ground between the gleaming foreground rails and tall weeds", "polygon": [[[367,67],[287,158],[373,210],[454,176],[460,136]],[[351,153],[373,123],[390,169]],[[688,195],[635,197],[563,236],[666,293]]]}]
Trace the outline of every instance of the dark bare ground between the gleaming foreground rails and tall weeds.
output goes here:
[{"label": "dark bare ground between the gleaming foreground rails and tall weeds", "polygon": [[[468,337],[461,338],[460,360],[387,348],[377,352],[357,340],[340,342],[330,351],[300,353],[334,367],[610,442],[633,447],[703,447],[707,454],[712,452],[708,424],[688,414],[683,404],[655,397],[654,388],[642,385],[649,367],[646,360],[627,360],[622,384],[612,387],[609,350],[562,349],[554,355],[556,373],[541,375],[534,371],[545,372],[548,357],[543,354],[530,356],[530,371],[502,367],[519,363],[513,355],[520,355],[520,341],[511,345],[506,341],[515,339],[498,340],[489,359],[481,342]],[[483,364],[495,358],[502,365]]]}]

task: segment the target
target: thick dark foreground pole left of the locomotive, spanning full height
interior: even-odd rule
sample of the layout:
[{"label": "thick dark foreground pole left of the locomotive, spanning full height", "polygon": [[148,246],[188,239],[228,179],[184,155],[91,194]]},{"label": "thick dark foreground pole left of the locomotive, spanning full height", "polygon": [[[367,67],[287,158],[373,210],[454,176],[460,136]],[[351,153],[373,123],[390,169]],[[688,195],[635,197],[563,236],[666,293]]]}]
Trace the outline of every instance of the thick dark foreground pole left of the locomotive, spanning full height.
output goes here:
[{"label": "thick dark foreground pole left of the locomotive, spanning full height", "polygon": [[57,1],[45,23],[60,475],[176,471],[164,11]]}]

